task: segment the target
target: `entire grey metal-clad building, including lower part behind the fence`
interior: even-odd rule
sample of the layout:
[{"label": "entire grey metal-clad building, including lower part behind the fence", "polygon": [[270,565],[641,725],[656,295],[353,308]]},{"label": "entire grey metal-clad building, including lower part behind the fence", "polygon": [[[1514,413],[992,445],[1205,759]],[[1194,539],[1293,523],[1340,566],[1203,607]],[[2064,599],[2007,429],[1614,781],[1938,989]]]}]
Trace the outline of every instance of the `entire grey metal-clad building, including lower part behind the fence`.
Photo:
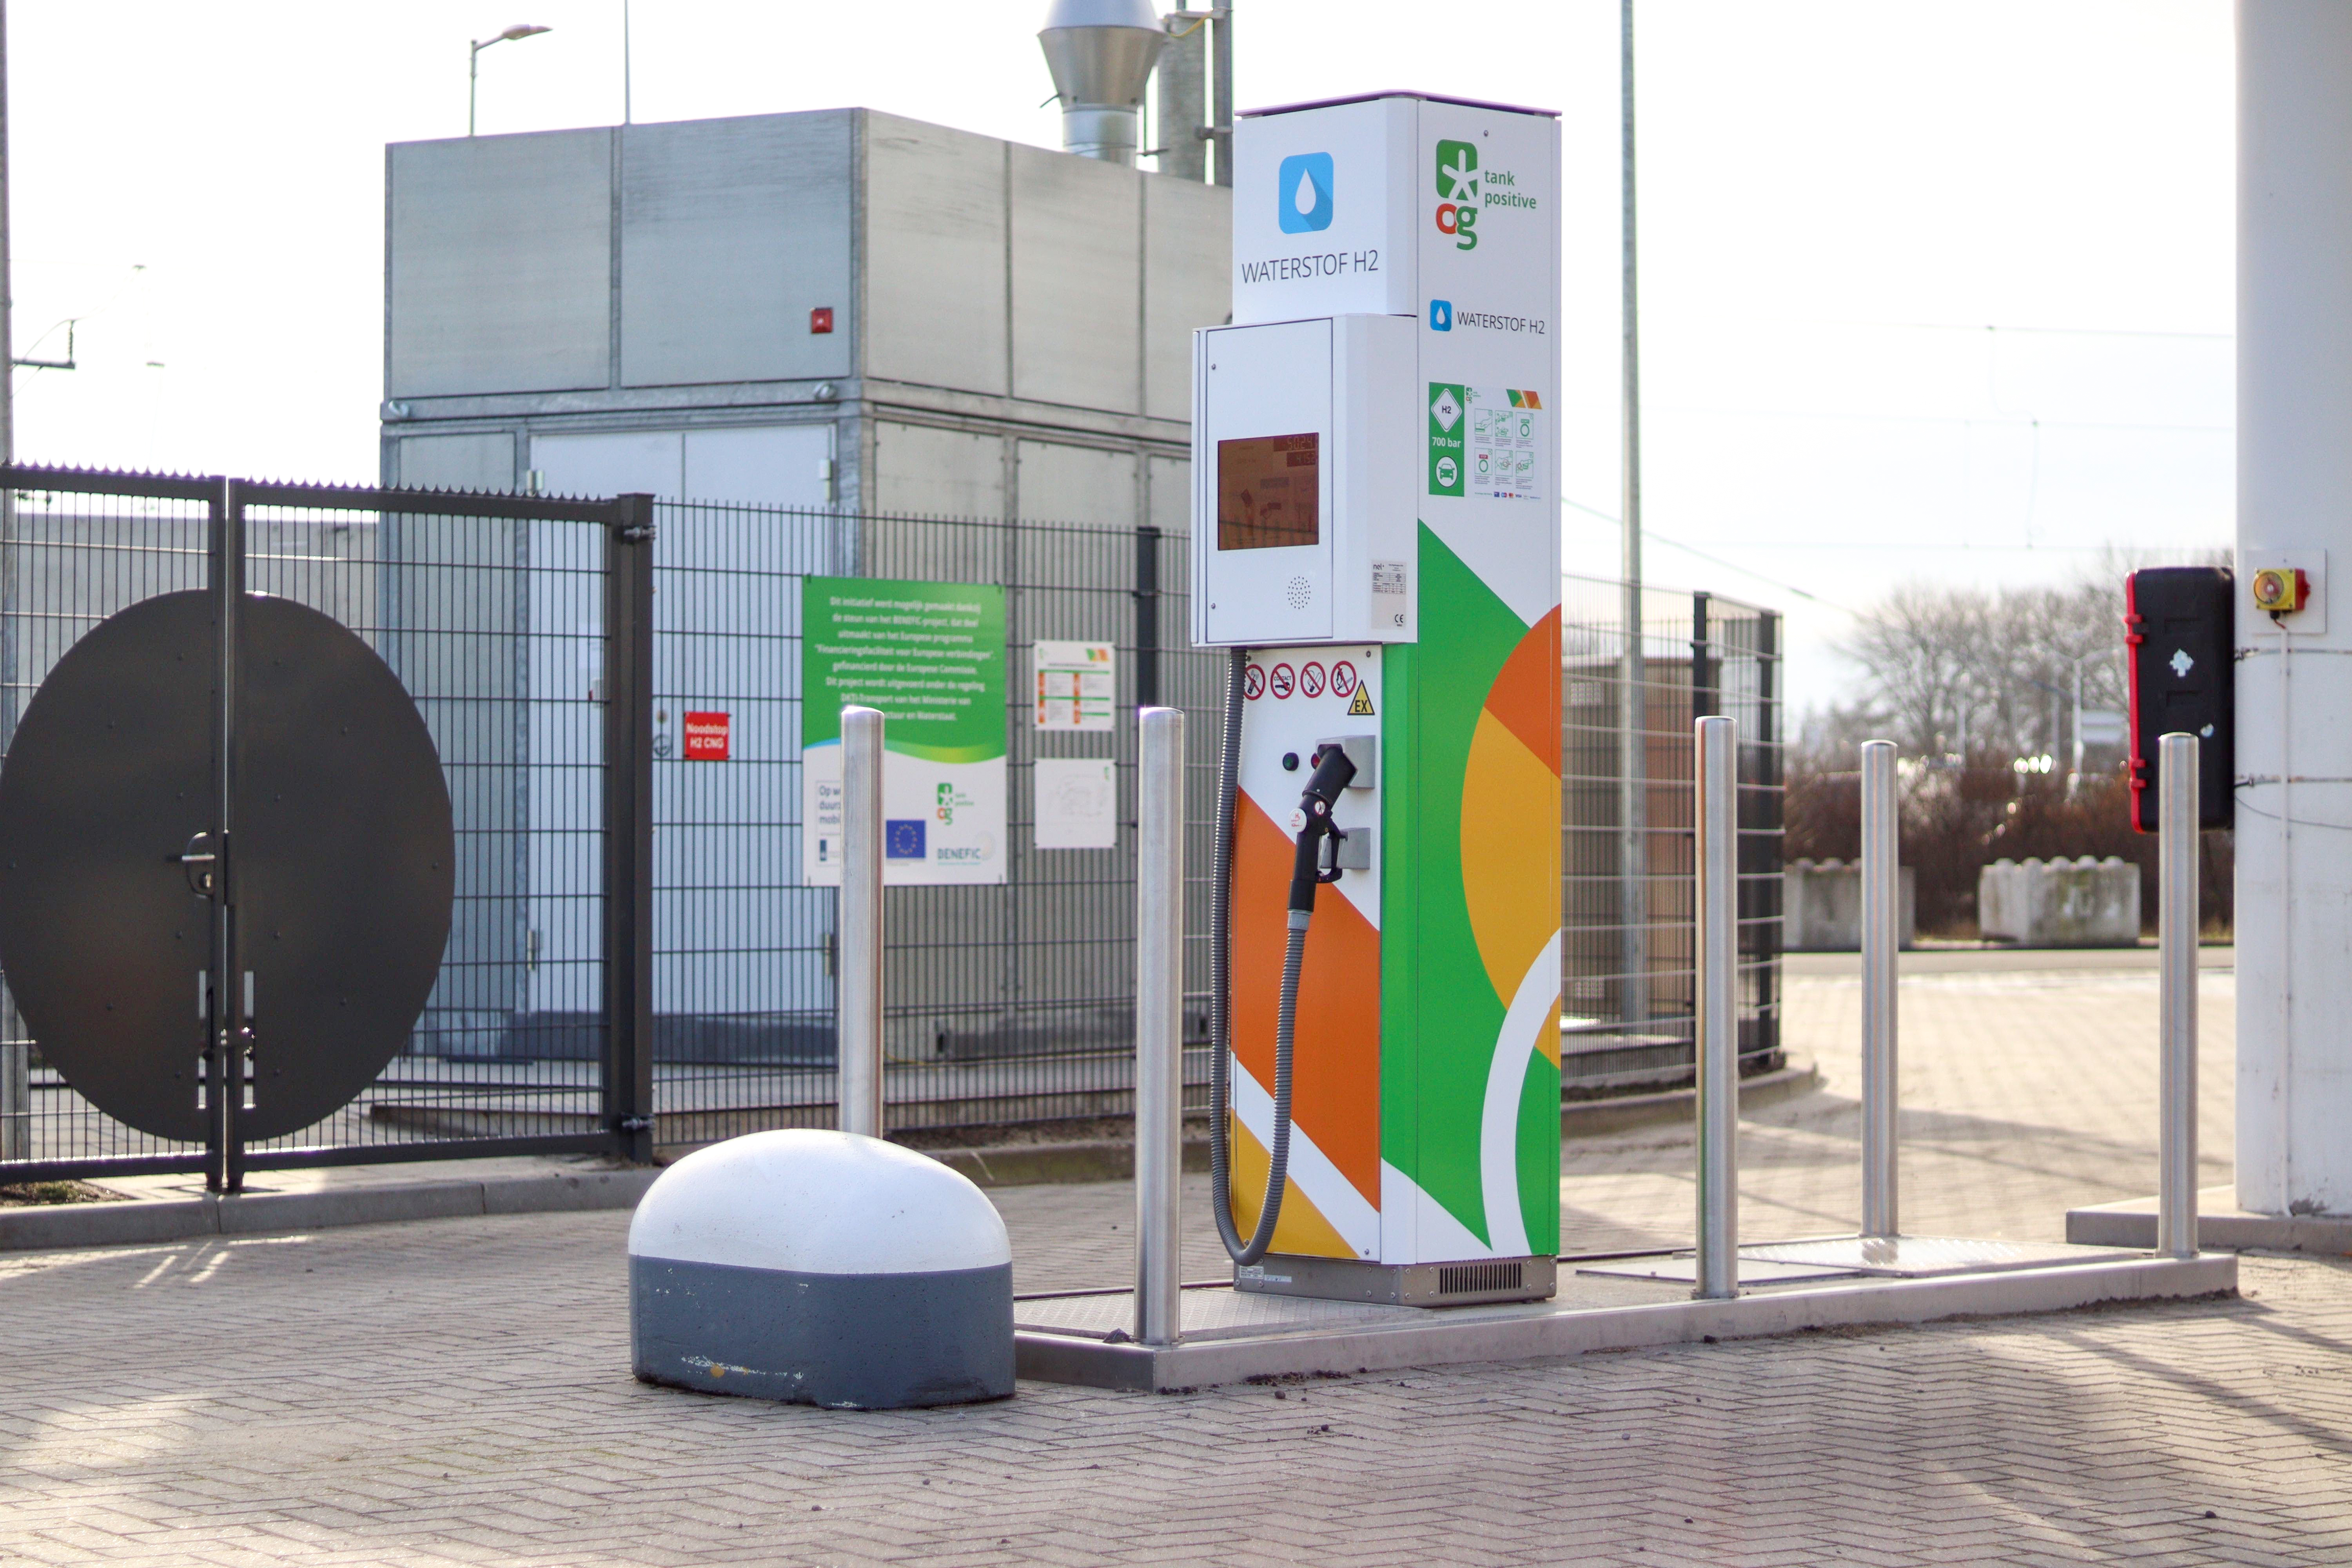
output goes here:
[{"label": "entire grey metal-clad building, including lower part behind the fence", "polygon": [[[670,1056],[830,1053],[830,898],[790,865],[786,576],[1000,581],[1000,550],[913,569],[877,555],[863,534],[882,515],[1181,538],[1192,329],[1230,315],[1228,249],[1221,186],[863,108],[386,150],[386,484],[717,503],[661,529],[656,574],[694,592],[743,574],[710,599],[715,621],[694,618],[708,639],[656,651],[659,689],[687,698],[656,724],[708,689],[743,726],[724,790],[656,769],[670,823],[656,924],[701,933],[656,964]],[[485,569],[461,604],[426,592],[397,538],[383,625],[430,614],[463,632],[459,656],[499,670],[499,693],[435,729],[470,849],[430,1034],[459,1053],[593,1056],[600,872],[579,764],[595,748],[595,545],[513,522],[440,538],[437,559],[475,552]],[[1117,581],[1098,588],[1124,604],[1136,550],[1101,557]],[[416,609],[397,609],[402,583]],[[1014,882],[1018,929],[1101,926],[1098,898]],[[1051,947],[1033,947],[1002,997],[946,969],[894,980],[894,1048],[950,1051],[955,1027],[1035,1037],[1018,1006],[1120,990],[1108,973],[1042,985],[1028,971]],[[941,1018],[908,1016],[934,1004]]]}]

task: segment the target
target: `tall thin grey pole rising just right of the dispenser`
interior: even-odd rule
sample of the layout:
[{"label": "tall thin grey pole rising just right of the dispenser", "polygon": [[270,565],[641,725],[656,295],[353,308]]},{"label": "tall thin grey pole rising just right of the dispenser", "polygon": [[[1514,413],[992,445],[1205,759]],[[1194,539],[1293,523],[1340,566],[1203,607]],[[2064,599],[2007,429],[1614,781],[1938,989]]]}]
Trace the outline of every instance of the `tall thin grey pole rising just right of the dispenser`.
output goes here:
[{"label": "tall thin grey pole rising just right of the dispenser", "polygon": [[1639,1025],[1649,1018],[1649,670],[1642,661],[1642,310],[1639,270],[1635,266],[1635,183],[1632,183],[1632,0],[1623,0],[1618,40],[1618,172],[1625,202],[1625,557],[1618,574],[1625,581],[1625,668],[1621,679],[1618,726],[1618,910],[1623,914],[1623,997],[1618,1020]]}]

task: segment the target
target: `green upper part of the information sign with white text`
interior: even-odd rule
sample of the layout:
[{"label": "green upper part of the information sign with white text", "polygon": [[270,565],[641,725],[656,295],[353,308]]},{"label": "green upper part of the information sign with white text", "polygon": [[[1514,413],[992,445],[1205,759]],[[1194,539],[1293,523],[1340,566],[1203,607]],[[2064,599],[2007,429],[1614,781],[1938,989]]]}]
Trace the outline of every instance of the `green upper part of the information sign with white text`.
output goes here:
[{"label": "green upper part of the information sign with white text", "polygon": [[1004,755],[1004,590],[811,576],[800,583],[800,745],[842,738],[842,708],[880,708],[894,752]]}]

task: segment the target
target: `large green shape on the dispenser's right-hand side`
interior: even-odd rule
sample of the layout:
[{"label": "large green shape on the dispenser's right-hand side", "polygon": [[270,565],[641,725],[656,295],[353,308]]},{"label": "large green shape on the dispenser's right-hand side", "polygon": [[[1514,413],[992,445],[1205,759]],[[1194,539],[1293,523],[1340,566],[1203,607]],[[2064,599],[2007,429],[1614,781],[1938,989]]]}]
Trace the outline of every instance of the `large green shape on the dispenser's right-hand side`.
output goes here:
[{"label": "large green shape on the dispenser's right-hand side", "polygon": [[[1402,762],[1390,776],[1381,907],[1381,1157],[1486,1239],[1479,1131],[1503,1032],[1463,891],[1461,825],[1470,741],[1526,625],[1430,529],[1421,529],[1421,642],[1383,656]],[[1399,679],[1402,677],[1402,679]],[[1390,741],[1395,745],[1395,741]],[[1399,788],[1402,783],[1402,788]],[[1402,853],[1399,853],[1402,851]],[[1557,1070],[1550,1107],[1559,1105]],[[1552,1110],[1557,1138],[1557,1110]],[[1555,1150],[1557,1164],[1557,1150]],[[1526,1185],[1522,1168],[1522,1187]],[[1543,1246],[1536,1215],[1526,1234]],[[1555,1220],[1557,1227],[1557,1220]]]}]

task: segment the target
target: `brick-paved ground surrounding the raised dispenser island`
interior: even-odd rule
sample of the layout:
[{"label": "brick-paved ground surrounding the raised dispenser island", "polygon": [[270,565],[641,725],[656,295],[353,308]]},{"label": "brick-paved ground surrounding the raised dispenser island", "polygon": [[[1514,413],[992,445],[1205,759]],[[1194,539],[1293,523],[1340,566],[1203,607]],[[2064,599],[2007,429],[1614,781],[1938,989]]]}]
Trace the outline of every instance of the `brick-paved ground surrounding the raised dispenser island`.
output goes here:
[{"label": "brick-paved ground surrounding the raised dispenser island", "polygon": [[[1750,1234],[1851,1225],[1853,1001],[1790,985],[1828,1088],[1748,1128]],[[1912,1229],[2053,1237],[2147,1190],[2152,980],[1922,980],[1905,1030]],[[1571,1147],[1573,1241],[1686,1229],[1686,1164]],[[1124,1190],[997,1197],[1030,1288],[1124,1276]],[[0,1561],[2352,1561],[2352,1262],[2251,1258],[2232,1302],[851,1415],[635,1385],[623,1227],[0,1258]]]}]

